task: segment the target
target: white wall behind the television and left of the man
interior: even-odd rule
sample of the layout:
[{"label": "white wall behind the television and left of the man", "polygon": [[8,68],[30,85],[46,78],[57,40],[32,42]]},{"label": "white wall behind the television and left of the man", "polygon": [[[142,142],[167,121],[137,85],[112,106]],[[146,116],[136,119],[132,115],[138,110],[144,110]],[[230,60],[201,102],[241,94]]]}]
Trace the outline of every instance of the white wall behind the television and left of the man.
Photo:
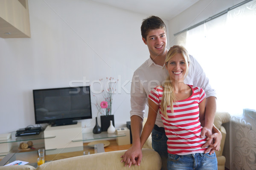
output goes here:
[{"label": "white wall behind the television and left of the man", "polygon": [[[0,39],[0,133],[35,125],[33,89],[68,87],[84,77],[128,81],[113,96],[115,124],[125,125],[130,120],[126,91],[135,69],[149,57],[140,34],[148,16],[86,0],[29,0],[29,16],[31,38]],[[93,106],[93,118],[96,113]],[[82,125],[94,126],[95,120]]]}]

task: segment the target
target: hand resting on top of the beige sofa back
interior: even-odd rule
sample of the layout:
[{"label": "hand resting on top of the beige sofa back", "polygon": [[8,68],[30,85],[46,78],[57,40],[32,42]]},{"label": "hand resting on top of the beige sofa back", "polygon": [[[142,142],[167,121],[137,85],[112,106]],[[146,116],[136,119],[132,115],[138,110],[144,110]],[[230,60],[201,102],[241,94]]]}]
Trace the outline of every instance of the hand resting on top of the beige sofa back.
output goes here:
[{"label": "hand resting on top of the beige sofa back", "polygon": [[131,167],[131,164],[135,164],[140,166],[140,162],[142,160],[142,151],[140,147],[135,147],[132,145],[128,150],[126,150],[125,154],[121,156],[122,162],[125,162],[125,167]]}]

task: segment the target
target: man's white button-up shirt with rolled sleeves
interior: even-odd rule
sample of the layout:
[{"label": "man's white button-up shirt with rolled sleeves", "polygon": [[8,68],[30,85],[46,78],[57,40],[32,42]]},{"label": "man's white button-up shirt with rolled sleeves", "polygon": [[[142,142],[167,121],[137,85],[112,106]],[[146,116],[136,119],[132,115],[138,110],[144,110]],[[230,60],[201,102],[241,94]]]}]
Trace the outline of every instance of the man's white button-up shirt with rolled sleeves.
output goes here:
[{"label": "man's white button-up shirt with rolled sleeves", "polygon": [[[186,76],[184,83],[188,85],[195,85],[203,88],[206,97],[216,97],[215,90],[209,85],[209,79],[206,77],[201,65],[194,57],[189,55],[189,73]],[[151,89],[162,83],[169,76],[168,71],[164,66],[157,65],[149,57],[136,71],[131,83],[131,116],[137,115],[142,119],[145,113],[145,105],[148,105],[148,95]],[[155,123],[158,127],[163,127],[163,122],[159,114]]]}]

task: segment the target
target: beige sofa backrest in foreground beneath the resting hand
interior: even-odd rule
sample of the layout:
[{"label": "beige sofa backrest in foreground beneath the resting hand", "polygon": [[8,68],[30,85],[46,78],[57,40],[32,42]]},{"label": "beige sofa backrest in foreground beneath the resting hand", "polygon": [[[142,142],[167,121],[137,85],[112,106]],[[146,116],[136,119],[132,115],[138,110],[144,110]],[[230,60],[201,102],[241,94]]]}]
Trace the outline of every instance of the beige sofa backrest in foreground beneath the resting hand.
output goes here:
[{"label": "beige sofa backrest in foreground beneath the resting hand", "polygon": [[[95,153],[91,155],[76,156],[67,159],[51,161],[40,165],[36,170],[126,170],[125,163],[120,163],[126,150]],[[132,165],[129,170],[160,170],[161,158],[152,149],[143,149],[143,158],[140,166]]]}]

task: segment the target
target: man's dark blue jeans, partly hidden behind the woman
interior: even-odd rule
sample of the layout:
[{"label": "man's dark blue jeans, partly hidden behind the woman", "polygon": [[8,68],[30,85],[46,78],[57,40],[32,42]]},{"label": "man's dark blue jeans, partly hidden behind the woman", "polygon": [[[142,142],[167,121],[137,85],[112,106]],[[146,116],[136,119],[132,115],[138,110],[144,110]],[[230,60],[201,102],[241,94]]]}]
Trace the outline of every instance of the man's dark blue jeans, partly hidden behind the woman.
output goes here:
[{"label": "man's dark blue jeans, partly hidden behind the woman", "polygon": [[167,158],[168,158],[168,152],[167,152],[167,137],[165,133],[161,133],[157,130],[152,130],[152,147],[162,159],[162,169],[161,170],[167,170]]}]

